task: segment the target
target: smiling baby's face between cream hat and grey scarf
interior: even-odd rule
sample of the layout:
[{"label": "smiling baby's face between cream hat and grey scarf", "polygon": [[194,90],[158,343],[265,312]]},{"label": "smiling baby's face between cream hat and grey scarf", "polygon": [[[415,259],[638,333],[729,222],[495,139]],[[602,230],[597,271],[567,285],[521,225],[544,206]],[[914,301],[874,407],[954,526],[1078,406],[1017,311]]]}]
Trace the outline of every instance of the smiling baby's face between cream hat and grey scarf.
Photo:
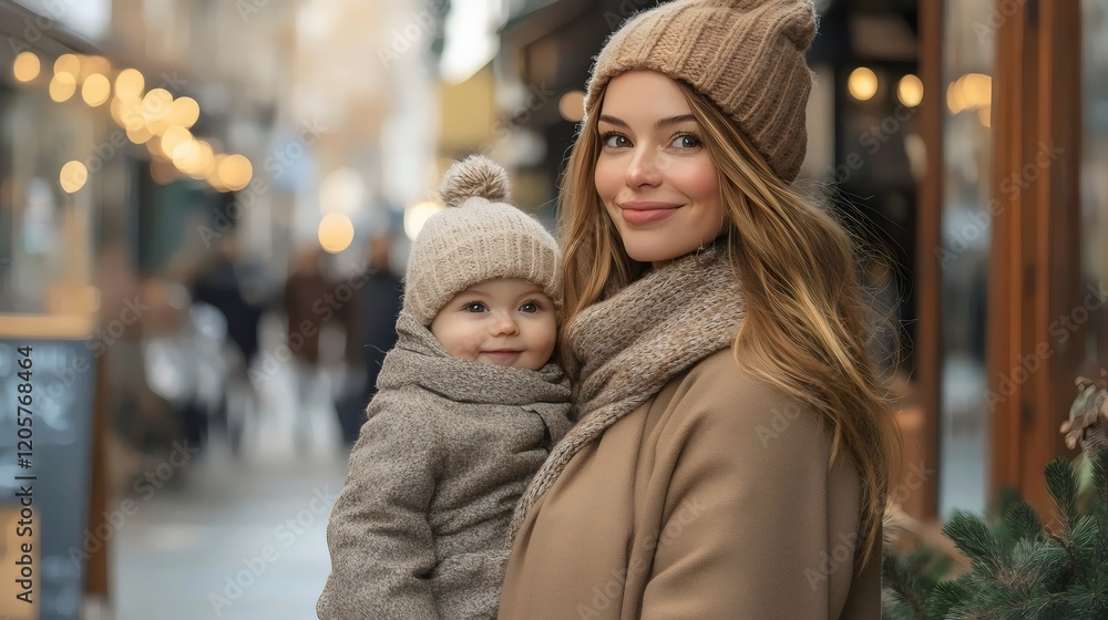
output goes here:
[{"label": "smiling baby's face between cream hat and grey scarf", "polygon": [[517,278],[478,282],[455,294],[431,321],[431,333],[455,358],[538,370],[554,353],[554,302]]}]

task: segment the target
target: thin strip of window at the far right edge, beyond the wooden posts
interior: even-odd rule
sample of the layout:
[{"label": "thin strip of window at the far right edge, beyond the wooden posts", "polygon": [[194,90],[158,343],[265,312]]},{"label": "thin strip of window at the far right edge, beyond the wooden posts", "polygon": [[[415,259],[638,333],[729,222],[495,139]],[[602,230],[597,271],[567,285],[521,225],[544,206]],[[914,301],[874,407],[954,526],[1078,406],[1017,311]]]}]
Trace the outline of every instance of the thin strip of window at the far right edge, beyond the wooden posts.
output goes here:
[{"label": "thin strip of window at the far right edge, beyond the wooden posts", "polygon": [[1108,366],[1108,6],[1081,2],[1081,299],[1089,310],[1085,368]]}]

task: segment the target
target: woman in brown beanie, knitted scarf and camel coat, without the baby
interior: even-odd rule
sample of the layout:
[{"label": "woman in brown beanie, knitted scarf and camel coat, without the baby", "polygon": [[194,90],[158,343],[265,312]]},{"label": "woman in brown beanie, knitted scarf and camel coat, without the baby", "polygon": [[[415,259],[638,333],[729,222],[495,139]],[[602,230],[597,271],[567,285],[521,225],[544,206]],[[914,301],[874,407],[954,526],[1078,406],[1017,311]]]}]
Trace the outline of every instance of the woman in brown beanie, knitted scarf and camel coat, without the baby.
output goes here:
[{"label": "woman in brown beanie, knitted scarf and camel coat, without the baby", "polygon": [[879,618],[894,433],[843,229],[790,188],[808,0],[677,0],[605,44],[562,188],[576,426],[500,618]]}]

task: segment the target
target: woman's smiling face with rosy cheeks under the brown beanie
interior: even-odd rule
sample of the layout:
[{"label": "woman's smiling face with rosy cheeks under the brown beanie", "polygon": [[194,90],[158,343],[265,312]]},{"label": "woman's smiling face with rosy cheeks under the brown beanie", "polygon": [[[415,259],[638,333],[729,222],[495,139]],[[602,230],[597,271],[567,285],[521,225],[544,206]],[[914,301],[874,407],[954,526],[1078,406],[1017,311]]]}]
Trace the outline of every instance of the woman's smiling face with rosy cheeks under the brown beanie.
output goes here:
[{"label": "woman's smiling face with rosy cheeks under the brown beanie", "polygon": [[716,165],[676,82],[654,71],[617,75],[598,123],[596,192],[630,258],[660,267],[719,236]]}]

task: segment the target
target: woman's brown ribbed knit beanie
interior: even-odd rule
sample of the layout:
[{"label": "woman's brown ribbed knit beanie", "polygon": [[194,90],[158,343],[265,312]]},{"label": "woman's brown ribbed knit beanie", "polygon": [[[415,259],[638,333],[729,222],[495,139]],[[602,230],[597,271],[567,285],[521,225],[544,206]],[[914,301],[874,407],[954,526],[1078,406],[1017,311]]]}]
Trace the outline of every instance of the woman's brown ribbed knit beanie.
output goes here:
[{"label": "woman's brown ribbed knit beanie", "polygon": [[811,0],[675,0],[626,21],[593,65],[585,110],[609,80],[649,69],[718,105],[787,182],[808,148],[812,86],[804,53],[815,37]]}]

